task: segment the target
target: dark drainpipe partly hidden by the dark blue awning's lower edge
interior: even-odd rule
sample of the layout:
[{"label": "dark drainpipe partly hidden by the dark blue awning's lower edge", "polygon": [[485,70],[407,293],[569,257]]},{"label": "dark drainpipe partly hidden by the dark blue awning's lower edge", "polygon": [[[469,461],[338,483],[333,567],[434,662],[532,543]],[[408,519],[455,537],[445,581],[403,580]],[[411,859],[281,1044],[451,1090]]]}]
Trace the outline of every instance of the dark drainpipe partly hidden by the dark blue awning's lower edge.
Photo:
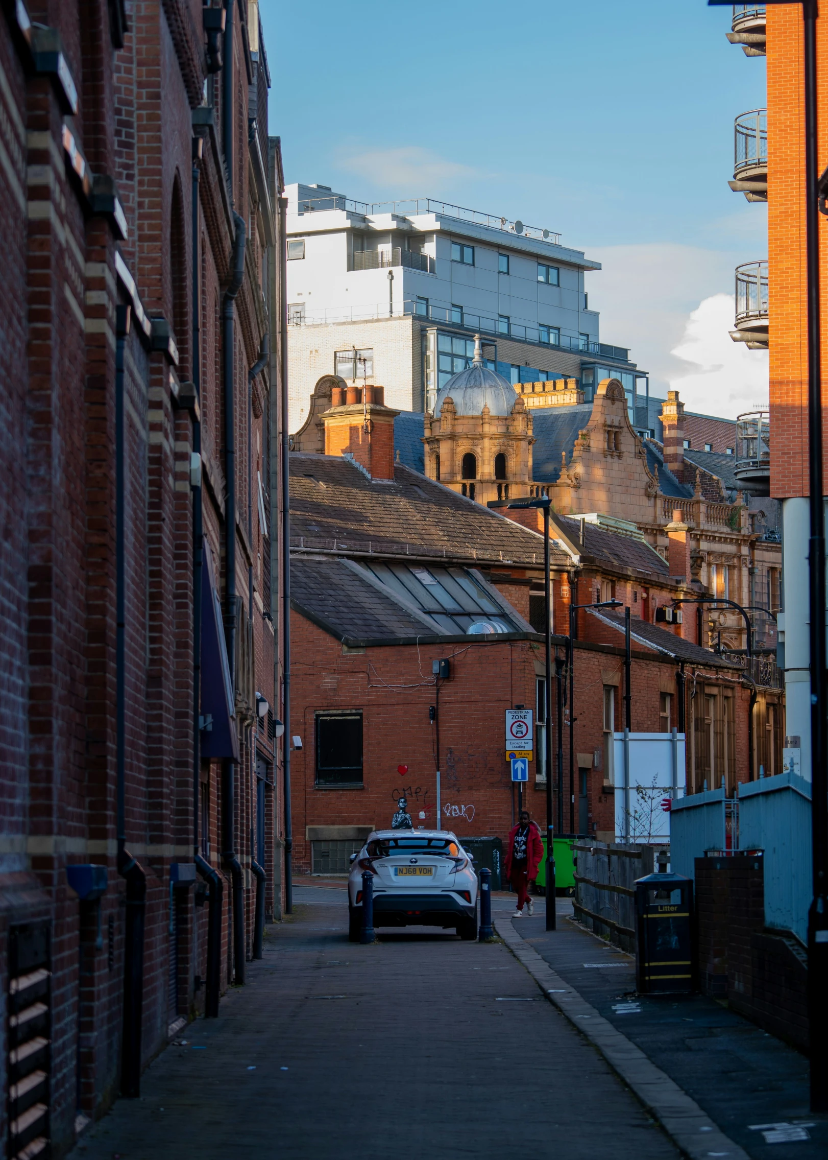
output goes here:
[{"label": "dark drainpipe partly hidden by the dark blue awning's lower edge", "polygon": [[[230,7],[227,10],[230,22]],[[227,65],[225,63],[225,74]],[[232,275],[221,303],[224,354],[224,479],[225,479],[225,611],[224,631],[227,640],[231,688],[235,693],[235,392],[233,365],[235,346],[233,333],[234,303],[245,277],[245,219],[233,212]],[[230,870],[233,889],[233,969],[237,983],[245,981],[245,877],[235,856],[235,762],[221,762],[221,861]]]}]

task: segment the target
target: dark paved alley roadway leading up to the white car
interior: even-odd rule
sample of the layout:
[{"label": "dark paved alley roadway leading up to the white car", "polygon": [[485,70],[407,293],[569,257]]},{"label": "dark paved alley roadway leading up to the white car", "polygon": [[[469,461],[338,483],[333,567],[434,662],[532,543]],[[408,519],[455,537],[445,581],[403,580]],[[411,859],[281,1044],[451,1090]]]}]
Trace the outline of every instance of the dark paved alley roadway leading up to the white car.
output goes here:
[{"label": "dark paved alley roadway leading up to the white car", "polygon": [[678,1160],[502,943],[408,928],[359,947],[335,887],[302,897],[220,1017],[73,1160]]}]

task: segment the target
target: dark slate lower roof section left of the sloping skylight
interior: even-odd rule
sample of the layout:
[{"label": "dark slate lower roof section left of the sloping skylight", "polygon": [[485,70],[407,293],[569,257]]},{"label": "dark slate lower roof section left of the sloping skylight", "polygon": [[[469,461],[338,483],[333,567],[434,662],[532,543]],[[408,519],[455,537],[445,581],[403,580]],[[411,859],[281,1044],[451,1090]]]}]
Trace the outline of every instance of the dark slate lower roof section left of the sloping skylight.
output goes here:
[{"label": "dark slate lower roof section left of the sloping skylight", "polygon": [[293,556],[291,603],[337,638],[435,636],[423,619],[365,583],[348,561],[331,556]]}]

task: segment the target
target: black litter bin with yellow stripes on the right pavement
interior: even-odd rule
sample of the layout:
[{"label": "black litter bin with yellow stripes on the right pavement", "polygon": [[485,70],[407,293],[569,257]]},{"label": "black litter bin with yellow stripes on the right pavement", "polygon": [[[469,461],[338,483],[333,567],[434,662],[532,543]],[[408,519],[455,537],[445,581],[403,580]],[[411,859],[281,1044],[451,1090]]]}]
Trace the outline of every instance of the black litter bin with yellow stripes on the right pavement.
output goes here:
[{"label": "black litter bin with yellow stripes on the right pavement", "polygon": [[640,994],[695,991],[692,878],[649,873],[635,882],[635,988]]}]

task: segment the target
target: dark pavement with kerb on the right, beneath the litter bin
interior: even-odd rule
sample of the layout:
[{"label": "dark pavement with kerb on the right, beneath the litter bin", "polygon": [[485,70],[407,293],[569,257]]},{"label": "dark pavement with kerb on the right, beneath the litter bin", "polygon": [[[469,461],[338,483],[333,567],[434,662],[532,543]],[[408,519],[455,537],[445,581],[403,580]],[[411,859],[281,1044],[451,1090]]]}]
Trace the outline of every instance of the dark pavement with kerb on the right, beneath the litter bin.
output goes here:
[{"label": "dark pavement with kerb on the right, beneath the litter bin", "polygon": [[[637,995],[634,959],[568,918],[561,921],[560,912],[559,904],[555,931],[546,931],[537,906],[535,918],[514,919],[511,927],[734,1144],[755,1160],[828,1155],[828,1117],[808,1111],[804,1056],[716,1000]],[[799,1138],[786,1140],[791,1134]]]}]

